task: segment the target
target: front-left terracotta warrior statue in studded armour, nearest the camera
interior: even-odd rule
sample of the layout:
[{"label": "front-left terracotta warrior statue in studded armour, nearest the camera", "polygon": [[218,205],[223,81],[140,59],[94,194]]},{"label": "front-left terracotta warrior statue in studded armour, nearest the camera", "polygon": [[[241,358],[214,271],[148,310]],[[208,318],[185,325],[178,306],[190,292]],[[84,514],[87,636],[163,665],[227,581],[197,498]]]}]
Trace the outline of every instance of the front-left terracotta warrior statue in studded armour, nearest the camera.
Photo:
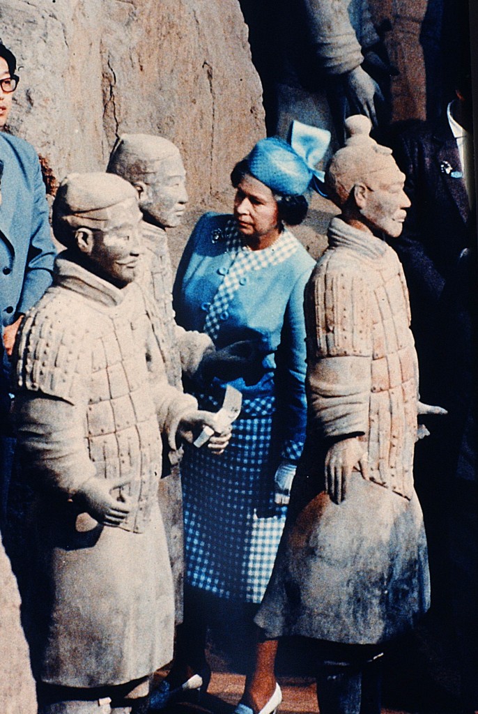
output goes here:
[{"label": "front-left terracotta warrior statue in studded armour, nearest the camera", "polygon": [[119,176],[68,176],[53,209],[66,251],[16,343],[19,454],[36,488],[24,610],[41,714],[138,712],[148,675],[173,655],[160,429],[176,448],[215,418],[168,382],[135,282],[140,222]]}]

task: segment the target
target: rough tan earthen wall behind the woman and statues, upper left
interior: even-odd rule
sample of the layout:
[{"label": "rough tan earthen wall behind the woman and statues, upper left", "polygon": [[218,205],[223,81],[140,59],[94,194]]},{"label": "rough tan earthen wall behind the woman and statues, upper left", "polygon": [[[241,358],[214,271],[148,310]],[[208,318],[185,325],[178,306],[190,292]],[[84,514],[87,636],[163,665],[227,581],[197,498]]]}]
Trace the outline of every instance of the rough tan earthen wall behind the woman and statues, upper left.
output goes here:
[{"label": "rough tan earthen wall behind the woman and statues, upper left", "polygon": [[11,129],[58,178],[103,169],[122,132],[161,134],[203,203],[265,132],[237,0],[2,0],[0,36],[21,66]]}]

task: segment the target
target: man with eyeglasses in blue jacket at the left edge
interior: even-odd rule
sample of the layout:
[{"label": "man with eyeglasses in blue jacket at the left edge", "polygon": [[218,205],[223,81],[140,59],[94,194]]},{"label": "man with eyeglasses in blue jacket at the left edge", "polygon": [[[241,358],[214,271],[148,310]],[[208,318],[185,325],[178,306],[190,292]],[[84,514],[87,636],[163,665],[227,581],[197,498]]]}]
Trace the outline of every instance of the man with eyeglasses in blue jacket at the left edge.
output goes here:
[{"label": "man with eyeglasses in blue jacket at the left edge", "polygon": [[0,525],[6,513],[13,439],[9,426],[10,356],[24,313],[51,283],[55,248],[39,158],[6,129],[19,78],[16,58],[0,40]]}]

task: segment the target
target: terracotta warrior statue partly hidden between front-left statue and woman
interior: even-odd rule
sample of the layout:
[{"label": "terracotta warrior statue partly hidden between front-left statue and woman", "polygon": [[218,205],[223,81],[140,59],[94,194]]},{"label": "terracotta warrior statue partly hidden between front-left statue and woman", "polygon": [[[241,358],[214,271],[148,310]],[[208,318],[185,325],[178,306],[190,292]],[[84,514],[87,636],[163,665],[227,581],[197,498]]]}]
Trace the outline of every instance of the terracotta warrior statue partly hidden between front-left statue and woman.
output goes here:
[{"label": "terracotta warrior statue partly hidden between front-left statue and woman", "polygon": [[[138,193],[143,213],[141,235],[144,256],[138,283],[143,288],[156,341],[166,365],[168,382],[182,391],[183,375],[207,371],[213,361],[230,370],[243,368],[247,343],[237,349],[215,351],[205,333],[186,331],[178,326],[173,311],[173,271],[168,250],[167,228],[180,225],[188,193],[185,169],[178,147],[162,136],[123,134],[111,151],[108,168],[129,181]],[[242,348],[241,348],[242,347]],[[242,356],[241,356],[242,352]],[[235,365],[235,366],[234,366]],[[215,367],[217,371],[218,367]],[[171,556],[176,595],[176,620],[183,615],[183,508],[179,462],[182,450],[168,447],[163,438],[163,479],[159,498]],[[169,478],[165,479],[164,477]]]}]

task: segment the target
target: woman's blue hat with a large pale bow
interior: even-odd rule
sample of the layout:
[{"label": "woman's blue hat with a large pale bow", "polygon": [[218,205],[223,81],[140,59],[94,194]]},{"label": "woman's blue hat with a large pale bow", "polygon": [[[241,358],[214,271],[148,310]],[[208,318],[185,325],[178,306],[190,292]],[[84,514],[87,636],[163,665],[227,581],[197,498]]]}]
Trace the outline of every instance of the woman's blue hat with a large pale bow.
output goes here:
[{"label": "woman's blue hat with a large pale bow", "polygon": [[325,196],[324,172],[315,169],[330,144],[330,131],[293,121],[290,144],[278,136],[260,139],[246,157],[250,173],[283,196],[313,188]]}]

